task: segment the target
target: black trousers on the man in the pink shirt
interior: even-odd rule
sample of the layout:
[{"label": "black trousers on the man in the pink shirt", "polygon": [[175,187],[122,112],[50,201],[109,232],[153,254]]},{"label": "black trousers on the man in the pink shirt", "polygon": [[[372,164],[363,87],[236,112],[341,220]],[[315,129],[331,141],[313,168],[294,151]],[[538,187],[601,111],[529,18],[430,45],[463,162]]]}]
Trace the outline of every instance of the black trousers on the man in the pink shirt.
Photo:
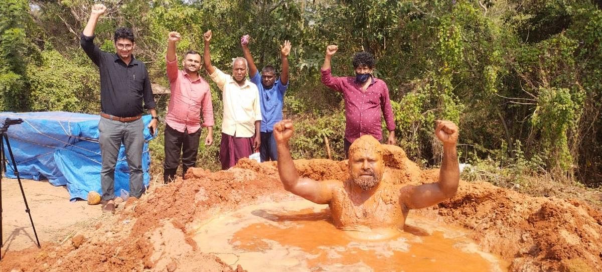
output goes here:
[{"label": "black trousers on the man in the pink shirt", "polygon": [[196,155],[199,152],[199,138],[202,128],[193,134],[176,131],[165,125],[165,161],[163,162],[163,178],[165,182],[173,181],[180,164],[182,153],[182,178],[188,168],[195,167]]}]

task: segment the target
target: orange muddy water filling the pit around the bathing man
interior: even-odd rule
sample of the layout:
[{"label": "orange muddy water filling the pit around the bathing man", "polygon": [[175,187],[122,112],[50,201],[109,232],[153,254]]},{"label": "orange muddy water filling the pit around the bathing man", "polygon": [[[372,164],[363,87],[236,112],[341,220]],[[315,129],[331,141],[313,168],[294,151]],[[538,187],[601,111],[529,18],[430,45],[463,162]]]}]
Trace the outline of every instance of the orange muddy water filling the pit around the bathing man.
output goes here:
[{"label": "orange muddy water filling the pit around the bathing man", "polygon": [[194,240],[202,252],[249,271],[507,271],[464,230],[415,214],[393,238],[356,234],[334,227],[327,205],[297,200],[216,215]]}]

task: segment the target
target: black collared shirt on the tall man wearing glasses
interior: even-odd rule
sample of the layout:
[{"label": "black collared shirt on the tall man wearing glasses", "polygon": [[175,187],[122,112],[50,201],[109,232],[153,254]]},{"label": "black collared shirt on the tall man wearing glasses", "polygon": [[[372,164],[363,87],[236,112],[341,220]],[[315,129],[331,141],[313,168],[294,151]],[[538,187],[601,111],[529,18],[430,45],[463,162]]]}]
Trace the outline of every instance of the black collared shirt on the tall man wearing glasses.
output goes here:
[{"label": "black collared shirt on the tall man wearing glasses", "polygon": [[144,108],[155,108],[151,81],[143,62],[132,56],[125,64],[117,54],[102,52],[94,44],[94,36],[81,34],[81,48],[101,72],[101,110],[117,117],[132,117]]}]

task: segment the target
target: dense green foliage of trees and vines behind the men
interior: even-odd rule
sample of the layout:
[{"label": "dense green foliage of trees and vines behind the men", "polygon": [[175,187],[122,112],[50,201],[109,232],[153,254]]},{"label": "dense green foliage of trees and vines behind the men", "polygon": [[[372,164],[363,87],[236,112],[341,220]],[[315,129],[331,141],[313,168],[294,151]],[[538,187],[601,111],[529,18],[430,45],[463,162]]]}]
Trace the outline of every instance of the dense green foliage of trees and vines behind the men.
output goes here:
[{"label": "dense green foliage of trees and vines behind the men", "polygon": [[[279,43],[291,40],[285,117],[294,119],[295,158],[332,157],[343,149],[341,96],[320,83],[326,45],[339,51],[335,75],[352,75],[351,58],[368,51],[391,93],[397,140],[423,165],[436,165],[433,121],[461,127],[461,161],[481,169],[547,172],[600,185],[602,11],[600,3],[523,1],[104,1],[96,42],[114,51],[116,26],[135,29],[135,56],[152,81],[164,76],[167,32],[178,51],[202,51],[212,29],[212,60],[229,70],[250,34],[259,67],[280,66]],[[0,4],[0,110],[98,111],[98,75],[78,48],[93,1],[7,0]],[[216,144],[199,165],[218,168],[221,100],[214,85]],[[158,97],[161,107],[169,97]],[[164,114],[161,110],[160,113]],[[161,159],[161,138],[152,143]],[[507,175],[499,172],[492,174]],[[513,174],[514,175],[514,174]]]}]

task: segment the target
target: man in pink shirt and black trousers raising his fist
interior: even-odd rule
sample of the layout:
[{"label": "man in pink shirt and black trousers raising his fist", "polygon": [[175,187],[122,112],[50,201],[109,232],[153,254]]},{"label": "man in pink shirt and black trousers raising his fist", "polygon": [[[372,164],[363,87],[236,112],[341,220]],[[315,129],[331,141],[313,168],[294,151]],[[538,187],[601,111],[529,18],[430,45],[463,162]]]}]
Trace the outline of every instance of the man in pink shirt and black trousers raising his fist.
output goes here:
[{"label": "man in pink shirt and black trousers raising his fist", "polygon": [[[172,91],[167,109],[165,126],[165,161],[163,163],[163,181],[175,179],[176,170],[182,153],[182,177],[188,168],[196,165],[196,155],[199,150],[199,138],[202,129],[207,128],[205,145],[213,143],[213,104],[209,84],[200,77],[200,54],[188,51],[184,54],[182,66],[178,70],[176,59],[176,43],[180,34],[169,33],[167,43],[167,78]],[[203,115],[201,123],[200,115]]]}]

